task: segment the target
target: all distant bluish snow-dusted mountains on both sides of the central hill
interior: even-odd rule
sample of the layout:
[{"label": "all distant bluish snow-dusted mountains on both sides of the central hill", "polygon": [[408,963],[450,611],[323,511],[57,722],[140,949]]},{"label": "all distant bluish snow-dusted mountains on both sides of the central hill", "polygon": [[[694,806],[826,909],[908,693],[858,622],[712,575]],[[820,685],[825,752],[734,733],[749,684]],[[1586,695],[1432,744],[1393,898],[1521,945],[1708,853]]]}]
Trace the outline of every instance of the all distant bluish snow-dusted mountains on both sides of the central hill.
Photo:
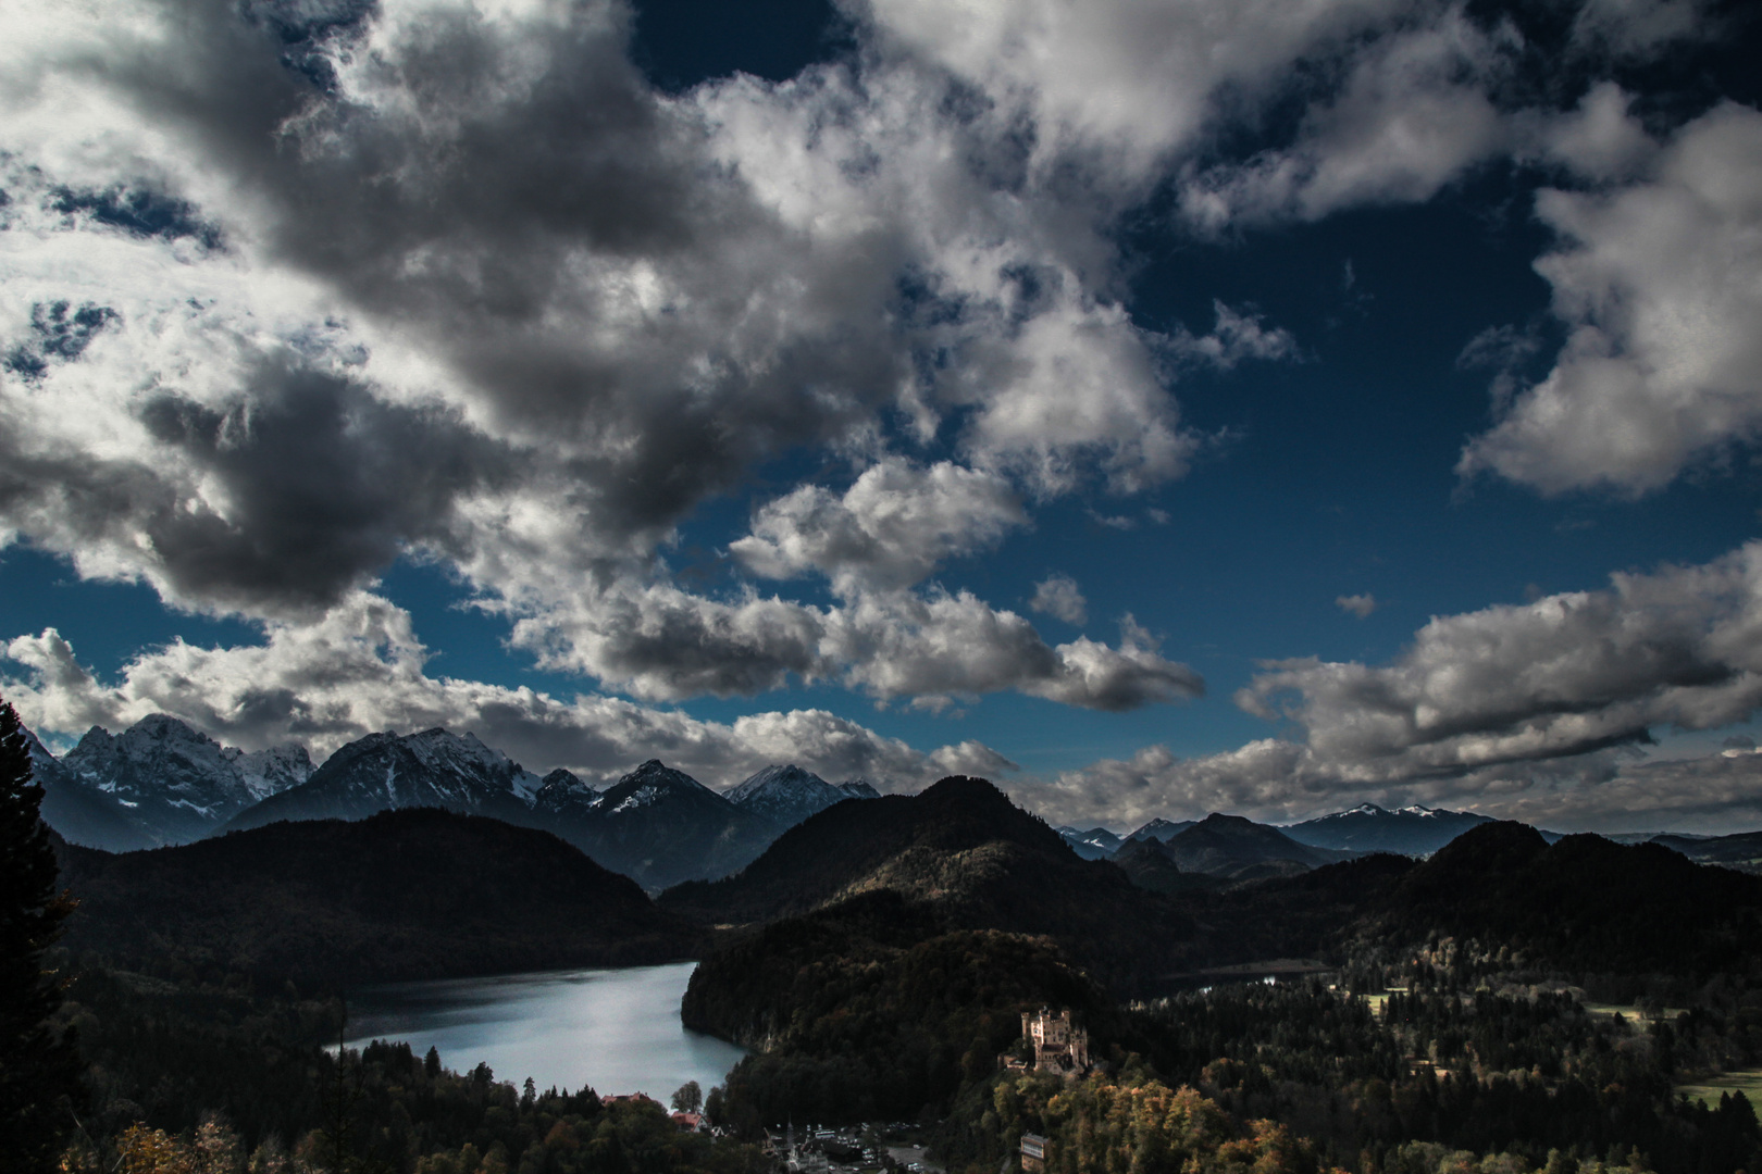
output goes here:
[{"label": "all distant bluish snow-dusted mountains on both sides of the central hill", "polygon": [[[425,806],[552,831],[650,892],[728,877],[803,820],[846,799],[879,797],[863,780],[828,783],[793,764],[717,792],[659,760],[597,790],[566,769],[539,778],[474,734],[444,729],[368,734],[317,767],[301,746],[247,753],[166,715],[115,736],[93,727],[62,759],[35,736],[30,745],[44,820],[78,845],[134,852],[280,820],[359,820]],[[1473,811],[1362,804],[1288,827],[1212,813],[1152,818],[1124,836],[1099,825],[1066,825],[1055,836],[1085,861],[1119,862],[1145,889],[1175,892],[1295,875],[1366,852],[1424,857],[1487,822]],[[1649,840],[1700,862],[1762,869],[1762,833]],[[1135,847],[1145,843],[1166,852]]]}]

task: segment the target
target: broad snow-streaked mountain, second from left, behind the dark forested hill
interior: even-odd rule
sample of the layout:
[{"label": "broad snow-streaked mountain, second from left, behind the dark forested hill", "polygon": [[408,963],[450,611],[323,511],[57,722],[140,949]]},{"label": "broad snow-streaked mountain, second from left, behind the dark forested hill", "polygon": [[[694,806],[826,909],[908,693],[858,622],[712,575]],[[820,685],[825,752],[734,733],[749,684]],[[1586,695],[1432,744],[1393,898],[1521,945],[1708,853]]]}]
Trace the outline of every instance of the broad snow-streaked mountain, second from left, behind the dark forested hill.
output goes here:
[{"label": "broad snow-streaked mountain, second from left, behind the dark forested hill", "polygon": [[442,808],[532,824],[532,803],[543,785],[476,734],[442,729],[368,734],[333,753],[298,787],[236,815],[226,831],[278,820],[359,820],[398,808]]}]

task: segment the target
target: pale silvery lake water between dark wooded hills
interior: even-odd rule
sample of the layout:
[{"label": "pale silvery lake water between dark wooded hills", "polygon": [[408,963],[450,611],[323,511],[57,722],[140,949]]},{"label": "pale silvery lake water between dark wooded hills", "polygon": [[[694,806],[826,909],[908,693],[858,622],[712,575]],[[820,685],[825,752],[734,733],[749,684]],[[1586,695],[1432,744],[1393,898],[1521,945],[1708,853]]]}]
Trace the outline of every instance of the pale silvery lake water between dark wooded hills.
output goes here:
[{"label": "pale silvery lake water between dark wooded hills", "polygon": [[552,970],[495,979],[398,982],[349,994],[349,1047],[409,1040],[418,1056],[495,1079],[599,1095],[648,1093],[661,1104],[685,1081],[708,1093],[747,1053],[678,1021],[694,963],[627,970]]}]

